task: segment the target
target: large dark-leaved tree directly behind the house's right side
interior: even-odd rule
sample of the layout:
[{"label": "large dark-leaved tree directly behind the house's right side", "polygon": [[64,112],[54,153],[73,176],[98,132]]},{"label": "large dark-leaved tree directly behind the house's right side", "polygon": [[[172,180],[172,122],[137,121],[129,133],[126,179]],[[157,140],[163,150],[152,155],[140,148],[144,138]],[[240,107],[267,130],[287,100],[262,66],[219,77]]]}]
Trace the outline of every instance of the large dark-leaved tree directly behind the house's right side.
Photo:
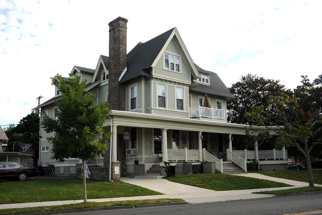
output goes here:
[{"label": "large dark-leaved tree directly behind the house's right side", "polygon": [[265,79],[252,74],[242,76],[240,81],[228,89],[236,99],[227,101],[227,120],[238,124],[251,124],[251,120],[244,117],[245,113],[251,112],[251,106],[262,105],[266,110],[271,95],[292,94],[279,80]]}]

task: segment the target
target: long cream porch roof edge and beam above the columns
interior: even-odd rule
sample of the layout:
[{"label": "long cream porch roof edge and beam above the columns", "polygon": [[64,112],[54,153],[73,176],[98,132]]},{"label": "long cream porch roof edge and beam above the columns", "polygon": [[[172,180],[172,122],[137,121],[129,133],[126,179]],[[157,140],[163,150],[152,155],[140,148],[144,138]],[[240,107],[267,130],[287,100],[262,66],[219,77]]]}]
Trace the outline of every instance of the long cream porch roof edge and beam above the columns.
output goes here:
[{"label": "long cream porch roof edge and beam above the columns", "polygon": [[[109,116],[113,118],[113,124],[116,126],[245,134],[245,125],[227,122],[213,122],[190,118],[114,110]],[[110,119],[108,118],[104,124],[104,127],[109,126]]]}]

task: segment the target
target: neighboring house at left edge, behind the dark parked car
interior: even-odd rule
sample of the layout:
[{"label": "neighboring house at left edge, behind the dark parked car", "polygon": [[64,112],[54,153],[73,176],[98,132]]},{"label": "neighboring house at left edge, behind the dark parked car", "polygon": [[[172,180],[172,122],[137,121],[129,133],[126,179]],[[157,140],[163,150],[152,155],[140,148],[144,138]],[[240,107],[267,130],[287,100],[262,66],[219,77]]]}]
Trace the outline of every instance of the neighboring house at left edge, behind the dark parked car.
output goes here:
[{"label": "neighboring house at left edge, behind the dark parked car", "polygon": [[20,163],[24,166],[27,165],[26,162],[26,154],[20,153],[20,152],[10,152],[5,150],[5,148],[2,147],[2,144],[6,141],[8,141],[8,137],[5,134],[4,130],[2,129],[0,125],[0,161],[13,161]]}]

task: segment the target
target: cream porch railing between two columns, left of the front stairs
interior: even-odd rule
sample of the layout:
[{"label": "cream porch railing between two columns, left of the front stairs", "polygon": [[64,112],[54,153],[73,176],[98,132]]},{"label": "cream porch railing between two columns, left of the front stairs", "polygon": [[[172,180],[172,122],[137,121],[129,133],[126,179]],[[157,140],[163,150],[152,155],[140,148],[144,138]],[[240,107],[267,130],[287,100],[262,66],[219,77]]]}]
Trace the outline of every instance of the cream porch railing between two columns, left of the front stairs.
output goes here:
[{"label": "cream porch railing between two columns, left of the front stairs", "polygon": [[168,149],[168,161],[199,161],[199,150]]}]

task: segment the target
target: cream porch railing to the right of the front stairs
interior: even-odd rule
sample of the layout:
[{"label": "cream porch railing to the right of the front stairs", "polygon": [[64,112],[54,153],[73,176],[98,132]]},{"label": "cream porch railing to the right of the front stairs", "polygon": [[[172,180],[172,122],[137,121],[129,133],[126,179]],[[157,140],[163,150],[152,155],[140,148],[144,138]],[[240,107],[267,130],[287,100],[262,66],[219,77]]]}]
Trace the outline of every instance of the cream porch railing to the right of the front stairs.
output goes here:
[{"label": "cream porch railing to the right of the front stairs", "polygon": [[[232,150],[234,154],[241,157],[242,159],[248,159],[248,160],[255,160],[256,154],[255,151],[249,151],[249,150]],[[258,151],[258,159],[259,160],[276,160],[276,159],[286,159],[287,156],[287,150],[285,150],[285,155],[283,156],[284,151],[283,150],[261,150]]]}]

